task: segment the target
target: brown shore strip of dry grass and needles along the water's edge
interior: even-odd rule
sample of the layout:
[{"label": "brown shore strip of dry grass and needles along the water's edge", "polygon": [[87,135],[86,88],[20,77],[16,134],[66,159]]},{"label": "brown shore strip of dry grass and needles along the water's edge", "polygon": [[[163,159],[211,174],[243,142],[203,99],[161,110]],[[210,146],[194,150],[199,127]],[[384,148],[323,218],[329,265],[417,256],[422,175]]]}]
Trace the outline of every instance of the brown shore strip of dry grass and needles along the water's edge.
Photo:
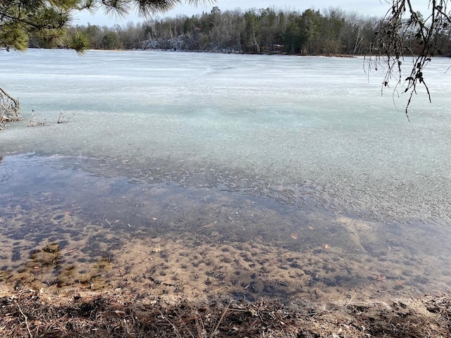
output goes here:
[{"label": "brown shore strip of dry grass and needles along the water's edge", "polygon": [[25,290],[0,303],[1,337],[450,337],[451,328],[451,296],[287,305]]}]

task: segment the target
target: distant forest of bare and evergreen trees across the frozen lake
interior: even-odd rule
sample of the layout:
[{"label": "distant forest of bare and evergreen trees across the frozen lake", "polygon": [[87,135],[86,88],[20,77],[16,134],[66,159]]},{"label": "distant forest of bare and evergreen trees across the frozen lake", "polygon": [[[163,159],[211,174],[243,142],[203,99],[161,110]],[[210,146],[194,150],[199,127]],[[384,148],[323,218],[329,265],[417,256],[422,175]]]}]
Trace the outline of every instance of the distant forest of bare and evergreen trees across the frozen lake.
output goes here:
[{"label": "distant forest of bare and evergreen trees across the frozen lake", "polygon": [[[252,8],[152,18],[142,23],[77,25],[68,37],[82,33],[92,49],[159,49],[248,54],[362,55],[369,51],[382,18],[346,12],[297,11]],[[412,52],[419,49],[415,28],[408,38]],[[438,54],[451,56],[451,30],[438,39]],[[42,39],[32,37],[30,47],[45,48]]]}]

